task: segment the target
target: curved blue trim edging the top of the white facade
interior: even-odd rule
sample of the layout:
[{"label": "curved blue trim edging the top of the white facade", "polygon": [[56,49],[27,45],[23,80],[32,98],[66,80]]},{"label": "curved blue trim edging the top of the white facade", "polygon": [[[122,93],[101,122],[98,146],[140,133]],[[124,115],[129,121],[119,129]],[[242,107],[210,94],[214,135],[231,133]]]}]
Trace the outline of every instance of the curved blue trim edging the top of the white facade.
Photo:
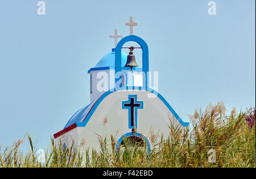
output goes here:
[{"label": "curved blue trim edging the top of the white facade", "polygon": [[[146,91],[150,91],[151,93],[154,93],[155,95],[157,95],[157,97],[159,97],[163,103],[167,106],[167,108],[171,111],[171,113],[174,115],[174,117],[179,121],[179,123],[184,126],[187,127],[188,126],[188,122],[183,122],[183,120],[180,118],[179,115],[177,115],[177,113],[174,111],[174,109],[172,109],[171,105],[169,105],[169,103],[166,101],[166,99],[164,99],[164,97],[162,95],[160,95],[157,91],[154,91],[153,89],[150,88],[143,88],[141,86],[125,86],[119,90],[128,90],[128,89],[137,89],[137,90],[146,90]],[[92,109],[90,110],[90,113],[86,116],[85,120],[83,122],[78,122],[76,123],[77,127],[85,127],[86,124],[88,123],[90,117],[93,115],[94,111],[97,109],[98,105],[100,105],[101,101],[103,101],[103,99],[105,99],[109,94],[113,93],[117,91],[116,89],[112,89],[109,91],[106,91],[104,94],[101,95],[100,98],[97,99],[97,101],[94,103]]]}]

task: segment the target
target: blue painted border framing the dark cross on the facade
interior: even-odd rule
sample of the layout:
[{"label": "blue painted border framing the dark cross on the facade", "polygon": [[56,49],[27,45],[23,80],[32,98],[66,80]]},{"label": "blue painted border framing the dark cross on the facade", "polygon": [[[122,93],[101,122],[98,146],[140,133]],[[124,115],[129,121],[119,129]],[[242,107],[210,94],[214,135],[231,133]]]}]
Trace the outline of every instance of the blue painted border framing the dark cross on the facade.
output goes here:
[{"label": "blue painted border framing the dark cross on the facade", "polygon": [[137,109],[143,109],[143,101],[137,101],[137,95],[128,95],[128,101],[122,101],[122,109],[128,109],[129,113],[129,128],[135,128],[134,126],[131,126],[131,107],[125,106],[125,103],[131,103],[131,98],[134,98],[134,103],[140,103],[141,106],[135,106],[134,107],[134,118],[135,118],[135,123],[134,126],[138,128],[138,115],[137,115]]}]

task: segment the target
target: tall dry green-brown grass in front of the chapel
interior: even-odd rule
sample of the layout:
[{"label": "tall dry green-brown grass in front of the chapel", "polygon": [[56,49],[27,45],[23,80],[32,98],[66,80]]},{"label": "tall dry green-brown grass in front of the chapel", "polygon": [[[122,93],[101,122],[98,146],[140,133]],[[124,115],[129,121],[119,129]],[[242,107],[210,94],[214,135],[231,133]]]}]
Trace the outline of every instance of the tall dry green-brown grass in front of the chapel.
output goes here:
[{"label": "tall dry green-brown grass in front of the chapel", "polygon": [[[80,151],[74,144],[63,147],[63,143],[56,145],[51,139],[45,162],[41,163],[36,142],[27,134],[31,150],[20,151],[24,138],[0,147],[0,167],[255,167],[255,109],[254,113],[238,114],[233,109],[230,115],[225,111],[221,102],[195,110],[189,115],[191,126],[187,131],[170,122],[170,135],[165,139],[151,130],[150,153],[146,145],[129,140],[124,140],[117,152],[113,136],[98,136],[100,151]],[[212,149],[216,163],[209,162],[208,152]]]}]

